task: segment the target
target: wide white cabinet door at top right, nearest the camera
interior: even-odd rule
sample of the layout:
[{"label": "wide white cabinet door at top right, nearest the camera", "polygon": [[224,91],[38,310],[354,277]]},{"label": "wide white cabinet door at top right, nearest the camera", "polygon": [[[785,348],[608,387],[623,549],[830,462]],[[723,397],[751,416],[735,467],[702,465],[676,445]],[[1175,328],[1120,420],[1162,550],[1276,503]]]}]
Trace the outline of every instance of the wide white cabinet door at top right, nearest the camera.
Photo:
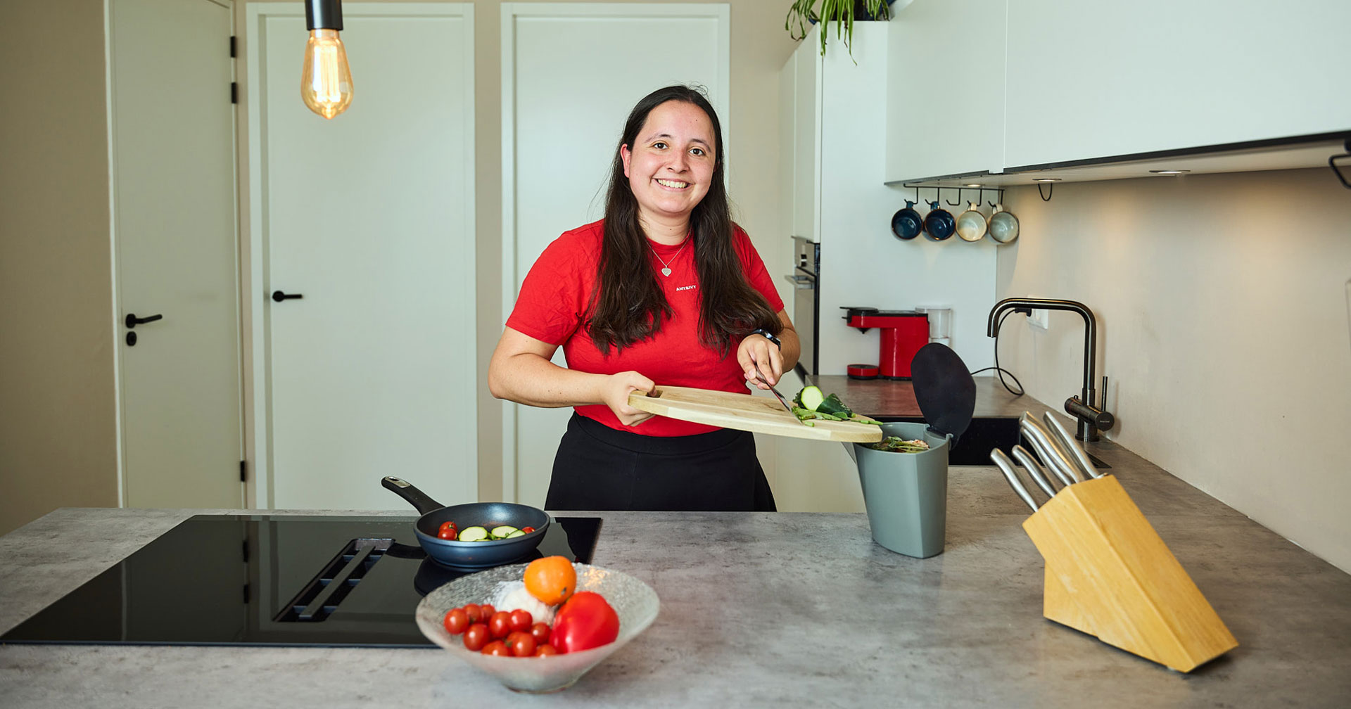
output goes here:
[{"label": "wide white cabinet door at top right, nearest the camera", "polygon": [[1351,130],[1348,26],[1347,0],[1008,3],[1005,166]]}]

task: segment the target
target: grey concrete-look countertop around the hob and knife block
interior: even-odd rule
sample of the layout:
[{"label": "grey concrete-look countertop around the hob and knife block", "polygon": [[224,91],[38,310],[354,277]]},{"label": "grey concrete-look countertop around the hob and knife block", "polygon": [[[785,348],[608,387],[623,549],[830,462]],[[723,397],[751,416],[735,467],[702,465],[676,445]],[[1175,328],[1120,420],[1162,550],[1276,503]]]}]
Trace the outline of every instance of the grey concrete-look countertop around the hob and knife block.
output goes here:
[{"label": "grey concrete-look countertop around the hob and knife block", "polygon": [[[512,694],[440,650],[11,644],[0,705],[1347,706],[1351,577],[1092,450],[1238,648],[1179,674],[1043,619],[1027,508],[994,469],[954,467],[929,559],[873,543],[865,515],[600,513],[594,563],[650,583],[661,616],[558,694]],[[58,509],[0,537],[0,632],[199,512],[236,510]]]}]

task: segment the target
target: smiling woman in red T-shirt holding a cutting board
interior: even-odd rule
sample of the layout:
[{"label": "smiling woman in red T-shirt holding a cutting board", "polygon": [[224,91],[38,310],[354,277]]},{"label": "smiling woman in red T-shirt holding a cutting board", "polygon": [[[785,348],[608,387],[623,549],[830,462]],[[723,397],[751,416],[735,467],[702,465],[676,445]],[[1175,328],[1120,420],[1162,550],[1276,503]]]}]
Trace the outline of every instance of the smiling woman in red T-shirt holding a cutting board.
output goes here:
[{"label": "smiling woman in red T-shirt holding a cutting board", "polygon": [[[708,100],[650,93],[624,124],[605,217],[561,235],[526,275],[488,386],[576,406],[546,508],[774,509],[751,434],[628,405],[658,382],[748,394],[797,362],[782,300],[731,221],[723,166]],[[567,367],[550,362],[559,346]]]}]

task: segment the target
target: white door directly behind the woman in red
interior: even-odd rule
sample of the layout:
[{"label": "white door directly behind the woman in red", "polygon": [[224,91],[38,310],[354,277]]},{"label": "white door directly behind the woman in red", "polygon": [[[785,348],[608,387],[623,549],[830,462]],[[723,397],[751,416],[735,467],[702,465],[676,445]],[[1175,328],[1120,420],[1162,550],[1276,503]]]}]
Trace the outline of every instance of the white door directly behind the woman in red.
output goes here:
[{"label": "white door directly behind the woman in red", "polygon": [[[544,247],[603,216],[616,142],[639,99],[701,84],[727,139],[730,38],[725,4],[503,4],[504,323]],[[554,362],[563,365],[561,348]],[[505,404],[508,498],[543,505],[571,411]]]}]

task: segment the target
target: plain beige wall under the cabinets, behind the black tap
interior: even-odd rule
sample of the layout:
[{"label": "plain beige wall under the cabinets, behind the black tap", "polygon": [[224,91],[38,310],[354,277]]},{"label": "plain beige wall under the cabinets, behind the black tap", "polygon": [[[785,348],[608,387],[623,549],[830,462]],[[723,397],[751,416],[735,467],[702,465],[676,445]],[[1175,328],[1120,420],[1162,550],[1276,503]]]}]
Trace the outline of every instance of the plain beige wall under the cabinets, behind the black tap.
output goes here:
[{"label": "plain beige wall under the cabinets, behind the black tap", "polygon": [[[1005,201],[998,297],[1098,320],[1109,439],[1351,571],[1351,190],[1327,169],[1062,182]],[[1082,320],[1012,316],[1001,365],[1047,404],[1079,390]]]}]

